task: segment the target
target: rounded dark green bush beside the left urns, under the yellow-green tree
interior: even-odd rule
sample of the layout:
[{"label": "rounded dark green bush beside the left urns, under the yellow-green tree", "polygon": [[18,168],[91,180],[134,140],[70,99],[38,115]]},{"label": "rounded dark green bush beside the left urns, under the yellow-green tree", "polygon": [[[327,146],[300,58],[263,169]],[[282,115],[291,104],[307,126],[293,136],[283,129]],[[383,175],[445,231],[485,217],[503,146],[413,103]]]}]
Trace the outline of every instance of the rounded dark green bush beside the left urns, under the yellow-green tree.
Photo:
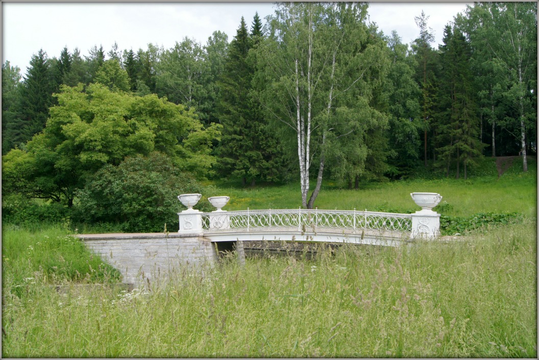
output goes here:
[{"label": "rounded dark green bush beside the left urns, under the yellow-green tree", "polygon": [[[78,218],[88,223],[121,224],[123,231],[158,232],[164,224],[176,224],[185,207],[177,196],[203,193],[190,175],[178,170],[161,153],[127,157],[118,167],[106,165],[78,192]],[[199,202],[198,209],[211,211]],[[172,229],[173,226],[169,226]]]}]

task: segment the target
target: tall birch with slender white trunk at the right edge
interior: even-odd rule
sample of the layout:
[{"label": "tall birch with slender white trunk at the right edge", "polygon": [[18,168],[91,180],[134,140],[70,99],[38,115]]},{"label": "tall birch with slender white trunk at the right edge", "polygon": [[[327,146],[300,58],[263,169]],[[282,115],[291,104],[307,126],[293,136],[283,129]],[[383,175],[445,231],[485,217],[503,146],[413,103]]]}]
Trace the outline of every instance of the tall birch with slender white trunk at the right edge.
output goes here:
[{"label": "tall birch with slender white trunk at the right edge", "polygon": [[514,135],[521,144],[522,169],[528,171],[526,134],[537,121],[537,3],[476,3],[468,6],[467,15],[485,25],[474,29],[471,37],[485,43],[505,74],[501,97],[517,118],[506,114],[498,121],[506,129],[519,130]]}]

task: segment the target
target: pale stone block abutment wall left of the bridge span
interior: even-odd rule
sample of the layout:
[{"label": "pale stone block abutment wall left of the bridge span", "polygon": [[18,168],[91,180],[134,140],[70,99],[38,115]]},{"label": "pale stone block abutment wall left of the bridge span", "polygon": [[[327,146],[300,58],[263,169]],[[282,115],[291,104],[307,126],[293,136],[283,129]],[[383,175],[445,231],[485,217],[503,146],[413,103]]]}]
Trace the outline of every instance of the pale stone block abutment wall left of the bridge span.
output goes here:
[{"label": "pale stone block abutment wall left of the bridge span", "polygon": [[210,265],[218,255],[210,240],[197,234],[139,233],[78,236],[86,247],[123,275],[123,282],[139,286],[167,276],[182,266]]}]

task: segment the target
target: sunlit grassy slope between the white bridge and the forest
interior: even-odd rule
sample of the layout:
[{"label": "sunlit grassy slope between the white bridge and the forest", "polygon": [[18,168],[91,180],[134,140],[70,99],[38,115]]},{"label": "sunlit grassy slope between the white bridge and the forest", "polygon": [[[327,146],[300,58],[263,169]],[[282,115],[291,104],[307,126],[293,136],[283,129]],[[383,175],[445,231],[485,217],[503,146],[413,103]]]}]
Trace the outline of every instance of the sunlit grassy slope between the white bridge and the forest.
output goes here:
[{"label": "sunlit grassy slope between the white bridge and the forest", "polygon": [[[470,216],[474,213],[521,212],[537,214],[537,168],[530,164],[527,174],[519,171],[521,164],[497,177],[494,160],[485,159],[481,177],[464,179],[421,179],[367,184],[358,190],[336,189],[330,183],[323,186],[315,205],[320,209],[415,212],[411,192],[438,192],[449,205],[442,212],[449,216]],[[312,184],[314,186],[314,184]],[[219,186],[208,196],[227,195],[230,202],[225,210],[297,209],[301,205],[299,184],[267,186],[264,188],[233,188]],[[436,208],[434,210],[437,210]]]}]

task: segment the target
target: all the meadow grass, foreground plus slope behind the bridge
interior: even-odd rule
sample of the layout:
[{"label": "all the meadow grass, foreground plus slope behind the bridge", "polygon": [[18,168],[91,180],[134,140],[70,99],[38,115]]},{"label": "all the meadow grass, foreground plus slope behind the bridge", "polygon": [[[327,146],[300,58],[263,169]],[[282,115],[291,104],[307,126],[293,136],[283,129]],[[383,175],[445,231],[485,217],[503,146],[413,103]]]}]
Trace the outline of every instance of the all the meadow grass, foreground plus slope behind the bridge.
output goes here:
[{"label": "all the meadow grass, foreground plus slope behind the bridge", "polygon": [[[81,289],[120,280],[68,235],[70,226],[4,224],[2,356],[536,358],[536,175],[468,182],[423,179],[357,191],[328,184],[317,204],[416,211],[409,192],[436,191],[447,216],[522,217],[453,243],[320,246],[314,258],[284,250],[247,258],[243,267],[230,254],[132,292]],[[214,184],[210,195],[231,196],[228,210],[296,207],[294,189]]]}]

